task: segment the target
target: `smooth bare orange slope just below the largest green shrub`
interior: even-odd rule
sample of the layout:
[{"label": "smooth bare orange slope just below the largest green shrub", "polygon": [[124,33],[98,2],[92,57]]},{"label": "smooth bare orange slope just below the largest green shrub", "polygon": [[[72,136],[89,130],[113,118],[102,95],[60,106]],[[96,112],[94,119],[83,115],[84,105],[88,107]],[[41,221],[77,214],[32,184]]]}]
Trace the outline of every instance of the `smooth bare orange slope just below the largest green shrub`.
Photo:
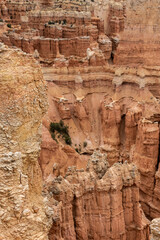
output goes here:
[{"label": "smooth bare orange slope just below the largest green shrub", "polygon": [[76,166],[80,169],[86,167],[86,159],[71,146],[54,141],[45,126],[42,128],[42,134],[39,163],[44,180],[51,181],[59,175],[65,176],[69,166]]}]

